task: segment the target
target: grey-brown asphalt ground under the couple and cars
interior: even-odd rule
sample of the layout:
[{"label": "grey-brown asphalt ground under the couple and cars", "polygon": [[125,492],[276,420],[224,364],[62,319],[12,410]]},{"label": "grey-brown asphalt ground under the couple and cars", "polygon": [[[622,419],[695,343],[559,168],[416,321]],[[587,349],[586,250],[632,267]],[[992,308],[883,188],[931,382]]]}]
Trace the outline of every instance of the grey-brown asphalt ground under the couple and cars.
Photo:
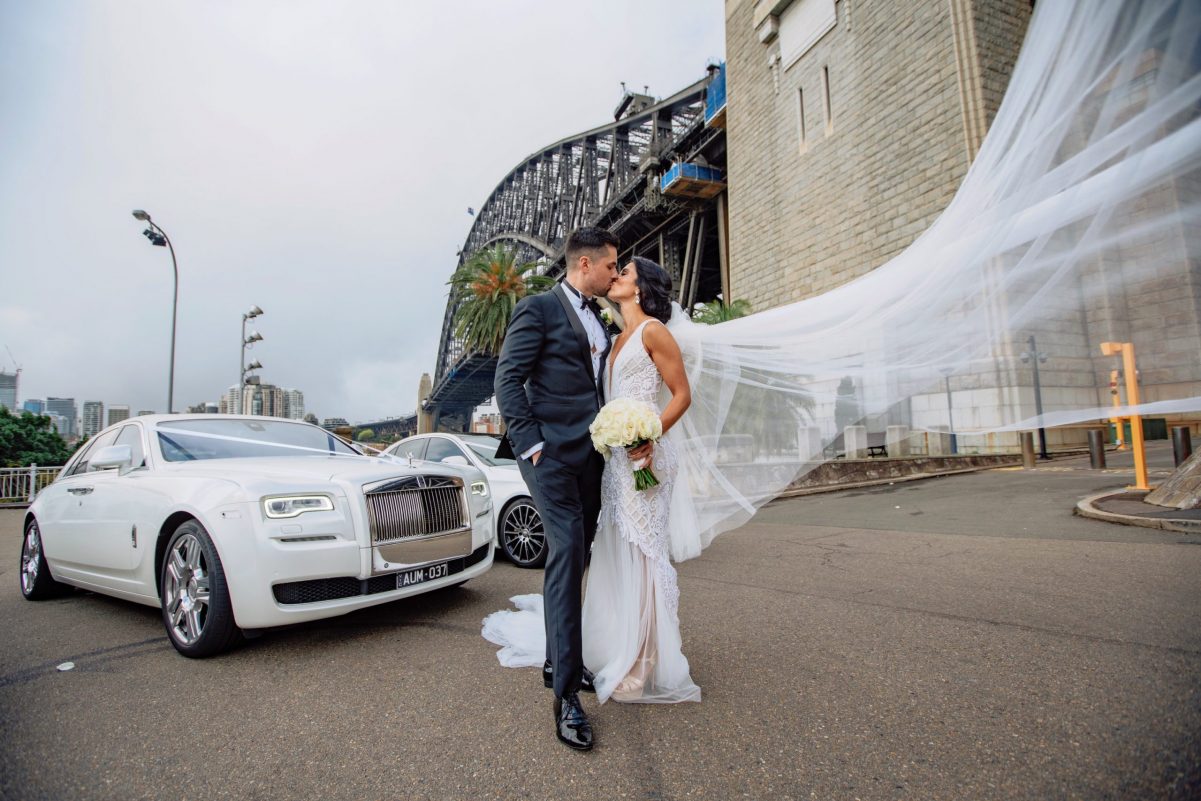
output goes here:
[{"label": "grey-brown asphalt ground under the couple and cars", "polygon": [[540,573],[193,662],[154,609],[24,602],[0,512],[0,797],[1199,797],[1201,538],[1071,515],[1129,480],[1077,459],[767,507],[680,567],[704,701],[587,699],[590,754],[479,638]]}]

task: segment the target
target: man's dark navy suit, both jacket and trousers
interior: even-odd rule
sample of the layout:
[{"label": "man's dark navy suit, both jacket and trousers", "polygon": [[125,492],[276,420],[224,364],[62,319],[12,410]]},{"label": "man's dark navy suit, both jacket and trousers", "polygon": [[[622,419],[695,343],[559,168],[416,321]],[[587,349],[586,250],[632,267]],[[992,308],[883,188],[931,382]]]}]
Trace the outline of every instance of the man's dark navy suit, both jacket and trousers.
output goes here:
[{"label": "man's dark navy suit, both jacket and trousers", "polygon": [[[600,512],[604,460],[588,425],[604,402],[587,333],[562,285],[513,312],[496,365],[496,402],[518,455],[543,443],[538,465],[518,465],[546,533],[543,600],[555,695],[579,689],[584,669],[580,590]],[[604,355],[608,355],[605,346]],[[604,365],[604,358],[600,360]],[[500,454],[498,454],[500,455]]]}]

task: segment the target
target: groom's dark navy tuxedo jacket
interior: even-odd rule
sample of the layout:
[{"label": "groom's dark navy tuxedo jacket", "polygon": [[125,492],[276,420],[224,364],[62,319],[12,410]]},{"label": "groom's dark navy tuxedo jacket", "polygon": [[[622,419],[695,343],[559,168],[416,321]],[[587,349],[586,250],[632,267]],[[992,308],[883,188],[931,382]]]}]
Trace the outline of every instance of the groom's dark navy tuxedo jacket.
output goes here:
[{"label": "groom's dark navy tuxedo jacket", "polygon": [[[524,298],[513,312],[496,364],[496,404],[506,442],[522,454],[543,442],[543,455],[584,465],[594,453],[588,425],[604,404],[600,376],[592,375],[592,347],[562,283]],[[605,343],[600,359],[609,354]],[[504,443],[497,456],[504,456]]]}]

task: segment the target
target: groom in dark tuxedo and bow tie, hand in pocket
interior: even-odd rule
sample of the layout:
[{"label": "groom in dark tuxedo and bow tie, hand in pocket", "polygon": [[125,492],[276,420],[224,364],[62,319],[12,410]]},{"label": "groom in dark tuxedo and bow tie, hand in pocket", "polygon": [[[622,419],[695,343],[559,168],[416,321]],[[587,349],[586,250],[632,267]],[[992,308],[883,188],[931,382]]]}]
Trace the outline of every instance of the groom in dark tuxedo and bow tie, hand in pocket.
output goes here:
[{"label": "groom in dark tuxedo and bow tie, hand in pocket", "polygon": [[584,669],[580,590],[604,470],[588,425],[604,402],[600,370],[609,353],[594,298],[605,297],[617,279],[617,238],[604,228],[580,228],[567,238],[566,257],[563,281],[525,298],[513,312],[495,389],[508,443],[546,533],[543,677],[555,688],[555,734],[587,751],[592,725],[579,691],[593,688]]}]

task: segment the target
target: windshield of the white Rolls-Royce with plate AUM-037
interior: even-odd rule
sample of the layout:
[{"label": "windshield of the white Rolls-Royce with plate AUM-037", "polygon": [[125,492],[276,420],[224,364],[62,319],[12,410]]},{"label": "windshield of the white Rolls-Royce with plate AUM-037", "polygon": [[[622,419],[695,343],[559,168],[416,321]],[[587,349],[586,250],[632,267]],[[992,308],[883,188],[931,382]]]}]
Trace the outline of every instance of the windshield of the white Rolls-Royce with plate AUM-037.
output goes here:
[{"label": "windshield of the white Rolls-Royce with plate AUM-037", "polygon": [[252,456],[357,456],[329,431],[279,420],[167,420],[157,426],[167,461]]}]

